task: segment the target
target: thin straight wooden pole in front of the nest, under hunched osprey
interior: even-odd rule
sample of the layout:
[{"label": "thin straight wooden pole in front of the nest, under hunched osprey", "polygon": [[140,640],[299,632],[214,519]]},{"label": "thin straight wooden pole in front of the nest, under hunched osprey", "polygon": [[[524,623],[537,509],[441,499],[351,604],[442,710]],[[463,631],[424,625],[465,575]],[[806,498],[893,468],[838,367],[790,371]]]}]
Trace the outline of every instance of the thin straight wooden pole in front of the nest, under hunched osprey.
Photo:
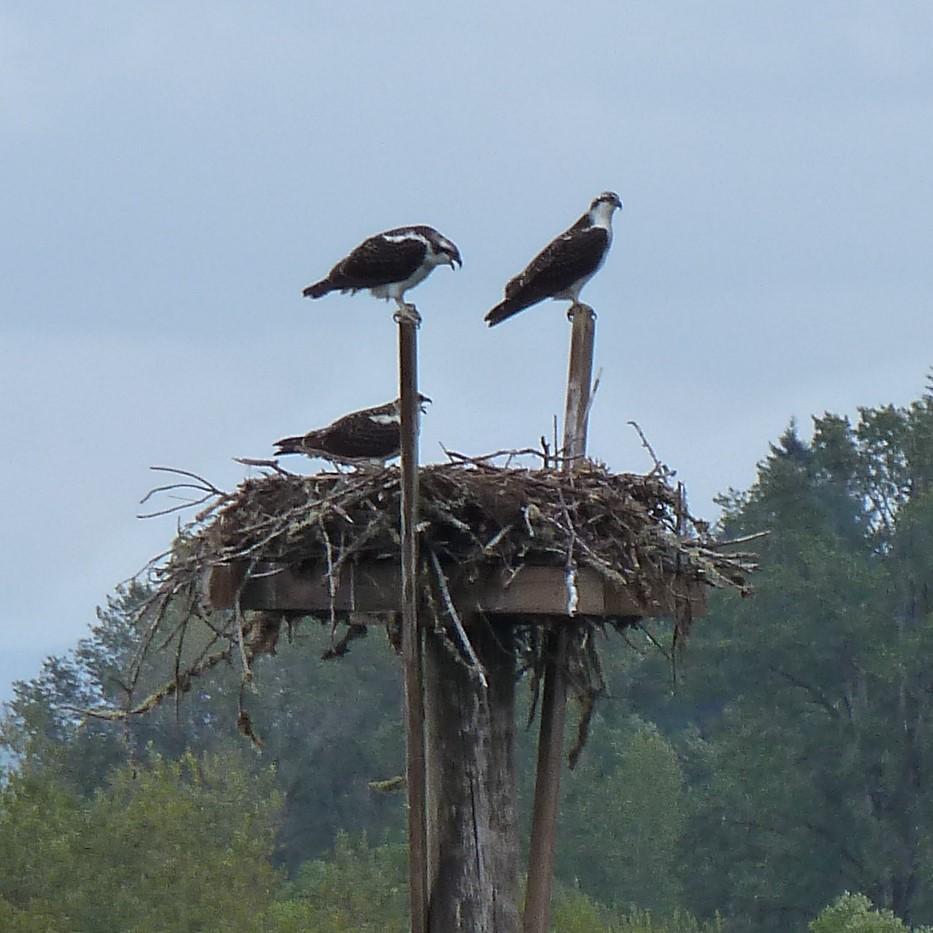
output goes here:
[{"label": "thin straight wooden pole in front of the nest, under hunched osprey", "polygon": [[412,933],[428,929],[427,769],[424,674],[418,627],[418,330],[398,320],[401,405],[402,660],[405,667],[405,735],[408,775],[408,871]]}]

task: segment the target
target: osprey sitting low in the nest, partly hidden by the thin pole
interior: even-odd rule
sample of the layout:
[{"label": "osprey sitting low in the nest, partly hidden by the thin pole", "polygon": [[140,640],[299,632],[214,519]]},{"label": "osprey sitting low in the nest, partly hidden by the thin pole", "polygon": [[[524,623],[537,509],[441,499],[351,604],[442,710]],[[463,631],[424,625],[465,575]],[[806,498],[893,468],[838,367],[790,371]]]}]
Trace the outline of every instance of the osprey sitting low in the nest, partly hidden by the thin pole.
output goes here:
[{"label": "osprey sitting low in the nest, partly hidden by the thin pole", "polygon": [[[431,400],[418,396],[419,407]],[[305,454],[335,463],[362,462],[385,466],[387,460],[399,455],[401,448],[401,402],[396,399],[378,408],[364,408],[338,418],[333,424],[301,437],[283,437],[276,441],[276,456]]]}]

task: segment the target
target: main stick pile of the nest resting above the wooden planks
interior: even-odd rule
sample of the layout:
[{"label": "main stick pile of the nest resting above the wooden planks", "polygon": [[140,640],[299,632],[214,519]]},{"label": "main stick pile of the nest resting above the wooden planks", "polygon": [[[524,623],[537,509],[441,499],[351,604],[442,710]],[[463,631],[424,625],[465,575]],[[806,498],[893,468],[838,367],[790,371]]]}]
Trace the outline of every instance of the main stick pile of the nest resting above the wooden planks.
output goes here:
[{"label": "main stick pile of the nest resting above the wooden planks", "polygon": [[[399,499],[392,468],[248,479],[202,514],[165,578],[237,560],[324,563],[334,573],[348,562],[397,562]],[[739,589],[752,568],[750,555],[726,555],[709,539],[662,476],[593,463],[572,473],[475,461],[424,467],[419,519],[422,548],[461,567],[572,562],[629,587],[675,574]]]}]

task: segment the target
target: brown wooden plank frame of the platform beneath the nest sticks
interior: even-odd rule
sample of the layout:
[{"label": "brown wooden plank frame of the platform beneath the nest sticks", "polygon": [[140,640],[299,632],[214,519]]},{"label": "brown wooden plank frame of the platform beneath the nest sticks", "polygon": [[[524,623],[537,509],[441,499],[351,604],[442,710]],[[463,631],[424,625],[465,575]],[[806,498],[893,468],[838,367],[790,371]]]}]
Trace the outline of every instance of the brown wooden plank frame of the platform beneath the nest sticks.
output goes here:
[{"label": "brown wooden plank frame of the platform beneath the nest sticks", "polygon": [[[459,568],[444,568],[451,598],[464,615],[473,612],[507,615],[606,616],[646,618],[676,616],[689,608],[692,617],[706,611],[706,588],[675,580],[656,588],[650,598],[634,589],[615,586],[590,568],[577,570],[575,579],[559,567],[523,567],[508,577],[501,569],[483,568],[468,576]],[[338,612],[384,613],[401,607],[398,564],[374,561],[349,566],[333,593],[322,567],[300,571],[270,564],[257,565],[245,585],[242,563],[214,567],[206,582],[208,601],[215,609],[233,608],[242,586],[243,609],[291,610],[309,614]]]}]

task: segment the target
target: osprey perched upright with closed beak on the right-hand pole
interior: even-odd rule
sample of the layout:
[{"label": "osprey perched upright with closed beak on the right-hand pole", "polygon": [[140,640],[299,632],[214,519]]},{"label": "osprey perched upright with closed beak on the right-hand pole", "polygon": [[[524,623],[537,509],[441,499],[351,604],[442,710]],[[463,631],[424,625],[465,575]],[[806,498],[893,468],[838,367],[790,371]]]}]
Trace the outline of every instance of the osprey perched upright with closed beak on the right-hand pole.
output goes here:
[{"label": "osprey perched upright with closed beak on the right-hand pole", "polygon": [[596,274],[612,244],[612,214],[622,207],[613,191],[593,199],[590,209],[566,232],[552,240],[505,286],[505,298],[486,320],[498,324],[545,298],[569,298],[574,305],[580,289]]}]

